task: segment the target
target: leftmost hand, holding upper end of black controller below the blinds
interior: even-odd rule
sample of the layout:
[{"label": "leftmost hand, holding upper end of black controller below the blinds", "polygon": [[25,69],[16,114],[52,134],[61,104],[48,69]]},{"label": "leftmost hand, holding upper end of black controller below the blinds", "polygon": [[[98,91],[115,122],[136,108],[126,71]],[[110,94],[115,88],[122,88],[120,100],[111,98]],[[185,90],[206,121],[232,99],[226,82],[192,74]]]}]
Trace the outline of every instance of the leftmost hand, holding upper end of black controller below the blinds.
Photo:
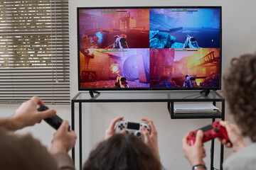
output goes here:
[{"label": "leftmost hand, holding upper end of black controller below the blinds", "polygon": [[33,96],[33,98],[30,100],[22,103],[14,115],[10,118],[14,125],[14,130],[35,125],[36,123],[40,123],[42,119],[50,118],[56,114],[54,109],[48,109],[47,111],[37,110],[37,106],[44,105],[45,104],[43,101],[36,96]]}]

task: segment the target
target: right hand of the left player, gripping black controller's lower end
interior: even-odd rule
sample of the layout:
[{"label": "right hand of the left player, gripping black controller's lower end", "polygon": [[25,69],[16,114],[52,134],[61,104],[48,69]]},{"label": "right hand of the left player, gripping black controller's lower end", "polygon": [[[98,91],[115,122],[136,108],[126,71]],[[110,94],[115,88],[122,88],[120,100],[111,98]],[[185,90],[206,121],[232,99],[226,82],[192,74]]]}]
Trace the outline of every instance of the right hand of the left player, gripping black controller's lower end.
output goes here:
[{"label": "right hand of the left player, gripping black controller's lower end", "polygon": [[77,135],[73,130],[68,131],[68,127],[68,120],[63,120],[60,128],[53,135],[52,147],[50,148],[51,154],[68,153],[75,146]]}]

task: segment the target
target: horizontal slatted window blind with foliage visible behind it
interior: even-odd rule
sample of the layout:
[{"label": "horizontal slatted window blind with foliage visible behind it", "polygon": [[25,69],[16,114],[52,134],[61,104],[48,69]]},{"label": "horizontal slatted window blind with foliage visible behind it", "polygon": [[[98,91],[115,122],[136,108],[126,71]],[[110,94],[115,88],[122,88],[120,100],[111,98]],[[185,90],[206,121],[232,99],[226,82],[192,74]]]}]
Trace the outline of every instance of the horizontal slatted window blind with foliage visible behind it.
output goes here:
[{"label": "horizontal slatted window blind with foliage visible behind it", "polygon": [[68,0],[0,0],[0,103],[70,103]]}]

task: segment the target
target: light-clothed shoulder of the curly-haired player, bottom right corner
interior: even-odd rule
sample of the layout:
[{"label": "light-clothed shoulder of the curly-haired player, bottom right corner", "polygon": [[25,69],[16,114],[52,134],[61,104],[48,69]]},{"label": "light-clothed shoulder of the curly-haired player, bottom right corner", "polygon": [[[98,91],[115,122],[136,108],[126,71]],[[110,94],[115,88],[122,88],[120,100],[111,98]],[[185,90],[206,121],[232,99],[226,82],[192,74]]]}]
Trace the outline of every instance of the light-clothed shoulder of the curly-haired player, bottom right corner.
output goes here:
[{"label": "light-clothed shoulder of the curly-haired player, bottom right corner", "polygon": [[223,167],[225,170],[256,169],[256,143],[231,154],[225,160]]}]

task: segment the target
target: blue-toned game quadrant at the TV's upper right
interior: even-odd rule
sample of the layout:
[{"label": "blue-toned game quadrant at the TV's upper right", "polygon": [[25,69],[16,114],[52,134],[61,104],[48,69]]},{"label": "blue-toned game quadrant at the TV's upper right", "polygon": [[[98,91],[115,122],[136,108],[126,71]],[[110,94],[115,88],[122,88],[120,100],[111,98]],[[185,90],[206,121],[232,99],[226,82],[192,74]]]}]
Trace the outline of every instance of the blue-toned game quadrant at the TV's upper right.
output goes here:
[{"label": "blue-toned game quadrant at the TV's upper right", "polygon": [[219,48],[219,8],[150,8],[150,48]]}]

